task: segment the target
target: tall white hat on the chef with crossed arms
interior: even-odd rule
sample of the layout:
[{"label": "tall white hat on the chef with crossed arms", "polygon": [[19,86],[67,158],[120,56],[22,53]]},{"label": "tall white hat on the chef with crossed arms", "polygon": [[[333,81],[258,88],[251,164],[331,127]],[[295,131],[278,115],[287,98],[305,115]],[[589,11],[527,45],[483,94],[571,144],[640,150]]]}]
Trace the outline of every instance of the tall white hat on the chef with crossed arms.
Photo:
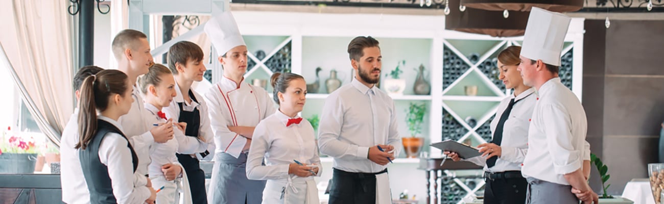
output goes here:
[{"label": "tall white hat on the chef with crossed arms", "polygon": [[219,56],[226,54],[228,50],[236,46],[246,45],[238,29],[238,24],[235,22],[230,11],[225,11],[221,15],[212,17],[205,24],[205,33],[207,33],[210,41],[212,41],[212,45],[216,49],[216,54]]}]

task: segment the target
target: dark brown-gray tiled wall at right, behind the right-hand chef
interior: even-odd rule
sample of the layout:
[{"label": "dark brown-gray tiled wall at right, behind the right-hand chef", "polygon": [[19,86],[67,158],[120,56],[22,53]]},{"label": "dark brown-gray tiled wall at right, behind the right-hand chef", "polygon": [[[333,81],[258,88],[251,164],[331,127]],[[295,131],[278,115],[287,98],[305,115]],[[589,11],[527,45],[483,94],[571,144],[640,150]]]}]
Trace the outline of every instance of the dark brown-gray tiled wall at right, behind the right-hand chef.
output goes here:
[{"label": "dark brown-gray tiled wall at right, behind the right-hand chef", "polygon": [[[664,121],[664,21],[586,20],[583,105],[592,152],[609,167],[609,193],[647,178]],[[600,190],[596,170],[591,184]]]}]

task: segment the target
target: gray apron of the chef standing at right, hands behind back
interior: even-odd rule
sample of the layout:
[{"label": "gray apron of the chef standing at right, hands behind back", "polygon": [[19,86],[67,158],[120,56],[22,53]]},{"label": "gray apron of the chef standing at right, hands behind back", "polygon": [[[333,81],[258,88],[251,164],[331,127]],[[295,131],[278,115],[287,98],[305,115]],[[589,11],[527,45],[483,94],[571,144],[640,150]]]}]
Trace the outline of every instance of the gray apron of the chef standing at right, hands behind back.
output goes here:
[{"label": "gray apron of the chef standing at right, hands behind back", "polygon": [[572,185],[562,185],[542,181],[536,178],[526,178],[528,191],[526,204],[578,204],[579,200],[572,193]]}]

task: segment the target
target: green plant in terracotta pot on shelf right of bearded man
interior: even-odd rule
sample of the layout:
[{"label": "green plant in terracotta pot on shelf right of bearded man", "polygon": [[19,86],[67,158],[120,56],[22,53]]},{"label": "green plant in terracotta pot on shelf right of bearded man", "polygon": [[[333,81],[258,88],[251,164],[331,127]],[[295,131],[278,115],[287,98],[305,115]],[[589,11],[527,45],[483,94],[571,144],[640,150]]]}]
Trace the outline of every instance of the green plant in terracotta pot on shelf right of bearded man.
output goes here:
[{"label": "green plant in terracotta pot on shelf right of bearded man", "polygon": [[406,150],[408,158],[416,158],[424,146],[424,138],[416,137],[422,133],[422,123],[424,123],[424,114],[426,113],[426,103],[410,102],[406,109],[406,124],[410,137],[402,137],[401,142]]}]

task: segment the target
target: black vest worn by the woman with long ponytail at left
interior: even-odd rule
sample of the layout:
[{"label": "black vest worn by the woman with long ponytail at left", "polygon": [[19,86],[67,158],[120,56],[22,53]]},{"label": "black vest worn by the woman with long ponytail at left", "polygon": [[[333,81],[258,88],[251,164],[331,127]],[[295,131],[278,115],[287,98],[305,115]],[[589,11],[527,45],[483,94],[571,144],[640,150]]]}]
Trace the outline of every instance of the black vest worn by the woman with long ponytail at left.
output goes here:
[{"label": "black vest worn by the woman with long ponytail at left", "polygon": [[[115,195],[113,195],[111,178],[108,176],[108,167],[102,164],[99,160],[99,146],[102,144],[102,139],[104,139],[106,133],[109,132],[120,134],[123,138],[127,139],[127,136],[125,136],[117,127],[104,120],[98,119],[97,133],[90,141],[90,144],[88,144],[88,148],[85,150],[80,149],[78,153],[81,168],[83,169],[83,176],[85,177],[85,181],[88,183],[88,189],[90,190],[90,203],[118,203]],[[136,168],[138,167],[138,157],[136,156],[133,147],[131,147],[131,144],[129,144],[129,140],[127,140],[127,147],[131,150],[133,172],[136,172]],[[133,183],[133,181],[131,181],[131,183]]]}]

